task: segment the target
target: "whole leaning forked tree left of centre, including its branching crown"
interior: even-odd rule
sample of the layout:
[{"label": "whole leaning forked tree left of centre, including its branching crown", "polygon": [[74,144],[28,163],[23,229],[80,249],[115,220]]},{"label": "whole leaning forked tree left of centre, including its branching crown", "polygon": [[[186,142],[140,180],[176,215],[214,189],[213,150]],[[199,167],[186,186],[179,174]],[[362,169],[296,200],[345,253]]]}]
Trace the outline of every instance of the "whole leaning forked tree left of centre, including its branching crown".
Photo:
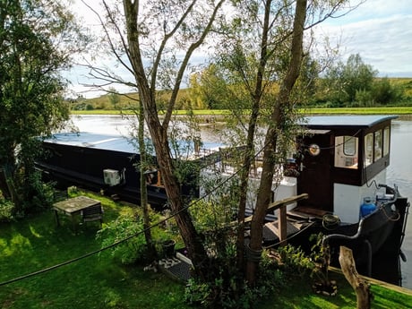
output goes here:
[{"label": "whole leaning forked tree left of centre, including its branching crown", "polygon": [[[180,193],[182,184],[176,175],[168,130],[190,59],[202,46],[223,3],[224,0],[124,0],[122,10],[119,5],[102,1],[107,18],[100,17],[100,21],[108,50],[133,75],[134,82],[121,80],[106,69],[91,68],[102,81],[127,83],[139,91],[167,199],[199,277],[207,276],[203,270],[207,255]],[[158,90],[168,92],[166,101],[165,97],[159,99]],[[159,107],[164,108],[162,118]]]}]

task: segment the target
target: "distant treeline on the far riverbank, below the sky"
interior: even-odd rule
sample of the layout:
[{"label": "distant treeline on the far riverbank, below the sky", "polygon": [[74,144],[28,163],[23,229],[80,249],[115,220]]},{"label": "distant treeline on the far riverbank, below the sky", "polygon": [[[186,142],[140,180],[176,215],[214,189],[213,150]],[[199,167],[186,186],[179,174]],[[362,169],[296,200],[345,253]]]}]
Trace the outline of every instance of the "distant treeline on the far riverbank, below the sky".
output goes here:
[{"label": "distant treeline on the far riverbank, below the sky", "polygon": [[[111,91],[99,98],[71,99],[70,107],[78,111],[136,109],[138,93],[120,94],[114,89]],[[301,102],[297,102],[297,107],[412,107],[412,78],[373,78],[367,83],[318,79],[302,98]],[[159,92],[159,105],[165,99],[167,91]],[[190,108],[227,109],[207,89],[180,90],[176,109]]]}]

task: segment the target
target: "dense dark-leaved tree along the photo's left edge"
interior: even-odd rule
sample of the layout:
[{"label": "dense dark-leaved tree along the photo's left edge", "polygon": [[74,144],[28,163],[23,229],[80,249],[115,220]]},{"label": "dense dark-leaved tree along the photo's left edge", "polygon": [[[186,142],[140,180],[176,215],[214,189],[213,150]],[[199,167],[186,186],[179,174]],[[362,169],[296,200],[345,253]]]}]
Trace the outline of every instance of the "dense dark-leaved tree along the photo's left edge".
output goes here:
[{"label": "dense dark-leaved tree along the photo's left edge", "polygon": [[21,210],[37,191],[30,183],[35,137],[68,117],[59,72],[85,42],[59,1],[0,1],[0,167]]}]

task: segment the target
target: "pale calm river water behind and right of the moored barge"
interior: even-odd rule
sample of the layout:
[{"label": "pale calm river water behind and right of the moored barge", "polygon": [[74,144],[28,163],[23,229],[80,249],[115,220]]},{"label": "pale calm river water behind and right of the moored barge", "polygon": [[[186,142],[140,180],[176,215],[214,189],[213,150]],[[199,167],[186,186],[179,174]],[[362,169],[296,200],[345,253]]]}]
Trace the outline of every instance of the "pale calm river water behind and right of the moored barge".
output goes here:
[{"label": "pale calm river water behind and right of the moored barge", "polygon": [[[130,120],[121,116],[73,116],[73,124],[81,132],[124,134],[129,133]],[[412,121],[396,120],[391,128],[391,165],[387,170],[387,185],[398,185],[399,192],[412,200]],[[204,142],[221,142],[219,134],[202,128]],[[402,286],[412,289],[412,218],[408,219],[402,252],[407,262],[401,262]]]}]

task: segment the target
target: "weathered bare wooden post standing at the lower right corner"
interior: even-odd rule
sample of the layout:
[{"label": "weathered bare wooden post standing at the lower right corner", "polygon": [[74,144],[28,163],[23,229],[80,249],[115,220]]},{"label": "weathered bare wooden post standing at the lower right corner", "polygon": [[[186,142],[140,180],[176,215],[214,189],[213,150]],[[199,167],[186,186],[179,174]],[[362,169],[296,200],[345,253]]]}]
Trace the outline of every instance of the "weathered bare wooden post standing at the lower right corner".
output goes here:
[{"label": "weathered bare wooden post standing at the lower right corner", "polygon": [[339,249],[339,264],[340,268],[348,280],[349,284],[356,292],[357,309],[371,308],[371,291],[369,284],[365,279],[362,279],[356,271],[356,265],[352,250],[343,245]]}]

